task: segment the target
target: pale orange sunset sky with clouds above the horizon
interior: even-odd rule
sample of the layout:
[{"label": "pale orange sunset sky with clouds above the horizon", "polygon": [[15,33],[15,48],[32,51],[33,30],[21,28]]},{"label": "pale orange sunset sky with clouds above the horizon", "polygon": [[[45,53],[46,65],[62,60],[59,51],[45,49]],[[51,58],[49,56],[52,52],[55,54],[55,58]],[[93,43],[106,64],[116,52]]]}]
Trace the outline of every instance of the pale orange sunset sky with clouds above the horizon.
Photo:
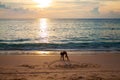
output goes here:
[{"label": "pale orange sunset sky with clouds above the horizon", "polygon": [[0,0],[0,18],[120,18],[120,0]]}]

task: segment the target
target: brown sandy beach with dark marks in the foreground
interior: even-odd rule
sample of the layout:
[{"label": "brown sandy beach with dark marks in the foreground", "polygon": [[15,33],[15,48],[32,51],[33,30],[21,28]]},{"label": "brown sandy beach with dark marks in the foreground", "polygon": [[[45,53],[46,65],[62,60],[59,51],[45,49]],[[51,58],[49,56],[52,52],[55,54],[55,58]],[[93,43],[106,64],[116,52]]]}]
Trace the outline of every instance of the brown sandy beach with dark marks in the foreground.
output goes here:
[{"label": "brown sandy beach with dark marks in the foreground", "polygon": [[[74,53],[74,52],[72,52]],[[120,54],[1,55],[0,80],[120,80]]]}]

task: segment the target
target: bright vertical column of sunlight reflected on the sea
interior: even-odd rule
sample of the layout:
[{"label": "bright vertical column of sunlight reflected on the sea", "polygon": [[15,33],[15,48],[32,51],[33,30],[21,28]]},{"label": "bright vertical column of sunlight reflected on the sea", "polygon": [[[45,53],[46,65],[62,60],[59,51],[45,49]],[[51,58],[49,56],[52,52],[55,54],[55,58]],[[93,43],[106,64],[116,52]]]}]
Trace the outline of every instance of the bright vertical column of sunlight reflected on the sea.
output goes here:
[{"label": "bright vertical column of sunlight reflected on the sea", "polygon": [[47,28],[48,28],[48,24],[47,24],[47,19],[40,19],[40,33],[39,33],[39,36],[41,38],[41,41],[44,42],[44,43],[48,43],[48,31],[47,31]]}]

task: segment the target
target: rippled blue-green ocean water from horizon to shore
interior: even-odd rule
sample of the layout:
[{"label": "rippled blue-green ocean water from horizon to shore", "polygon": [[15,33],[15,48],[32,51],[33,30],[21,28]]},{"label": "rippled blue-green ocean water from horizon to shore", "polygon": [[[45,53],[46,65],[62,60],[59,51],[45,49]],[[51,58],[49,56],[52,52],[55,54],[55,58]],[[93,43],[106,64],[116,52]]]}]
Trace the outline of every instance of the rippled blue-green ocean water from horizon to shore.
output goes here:
[{"label": "rippled blue-green ocean water from horizon to shore", "polygon": [[0,50],[120,51],[120,19],[1,19]]}]

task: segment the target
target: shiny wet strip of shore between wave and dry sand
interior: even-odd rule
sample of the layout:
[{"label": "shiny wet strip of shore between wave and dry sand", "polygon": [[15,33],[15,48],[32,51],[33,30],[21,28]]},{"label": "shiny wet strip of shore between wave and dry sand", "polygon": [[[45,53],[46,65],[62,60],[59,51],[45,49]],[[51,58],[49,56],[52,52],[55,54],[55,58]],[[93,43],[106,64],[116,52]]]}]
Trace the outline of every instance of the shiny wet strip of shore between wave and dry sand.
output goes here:
[{"label": "shiny wet strip of shore between wave and dry sand", "polygon": [[[1,55],[46,55],[46,56],[52,56],[52,55],[59,55],[59,53],[62,50],[2,50],[0,51]],[[94,51],[94,50],[66,50],[69,55],[98,55],[98,54],[120,54],[120,51]]]}]

